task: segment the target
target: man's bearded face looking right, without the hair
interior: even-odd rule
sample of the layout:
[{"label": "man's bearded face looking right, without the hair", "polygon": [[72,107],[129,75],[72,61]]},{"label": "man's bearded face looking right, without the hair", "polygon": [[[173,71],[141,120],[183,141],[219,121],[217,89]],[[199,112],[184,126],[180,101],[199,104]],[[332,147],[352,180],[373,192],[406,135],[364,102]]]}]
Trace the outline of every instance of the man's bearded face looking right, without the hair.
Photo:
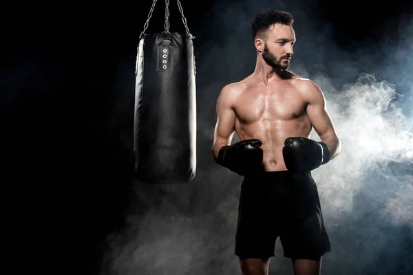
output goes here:
[{"label": "man's bearded face looking right, without the hair", "polygon": [[267,32],[267,39],[262,52],[264,61],[276,69],[288,69],[294,54],[295,32],[293,27],[274,24]]}]

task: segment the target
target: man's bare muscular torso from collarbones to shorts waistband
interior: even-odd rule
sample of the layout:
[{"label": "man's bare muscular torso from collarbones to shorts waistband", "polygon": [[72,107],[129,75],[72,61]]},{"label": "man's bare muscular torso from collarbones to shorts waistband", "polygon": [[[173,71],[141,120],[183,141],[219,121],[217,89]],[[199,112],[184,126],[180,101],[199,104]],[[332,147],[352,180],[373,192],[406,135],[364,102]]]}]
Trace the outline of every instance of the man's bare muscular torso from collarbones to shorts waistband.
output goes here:
[{"label": "man's bare muscular torso from collarbones to shorts waistband", "polygon": [[299,91],[299,79],[277,80],[268,86],[246,80],[238,83],[234,102],[235,131],[240,140],[262,140],[264,169],[287,170],[282,147],[287,137],[310,137],[306,99]]}]

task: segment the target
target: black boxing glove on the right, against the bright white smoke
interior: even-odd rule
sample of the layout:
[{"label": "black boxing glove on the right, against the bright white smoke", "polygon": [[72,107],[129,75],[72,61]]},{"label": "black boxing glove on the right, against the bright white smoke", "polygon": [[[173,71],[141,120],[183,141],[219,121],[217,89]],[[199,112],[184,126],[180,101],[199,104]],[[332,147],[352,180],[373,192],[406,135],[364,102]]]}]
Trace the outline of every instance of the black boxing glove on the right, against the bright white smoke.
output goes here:
[{"label": "black boxing glove on the right, against the bright white smoke", "polygon": [[286,138],[282,155],[287,169],[293,173],[318,168],[329,162],[331,157],[327,144],[305,137]]}]

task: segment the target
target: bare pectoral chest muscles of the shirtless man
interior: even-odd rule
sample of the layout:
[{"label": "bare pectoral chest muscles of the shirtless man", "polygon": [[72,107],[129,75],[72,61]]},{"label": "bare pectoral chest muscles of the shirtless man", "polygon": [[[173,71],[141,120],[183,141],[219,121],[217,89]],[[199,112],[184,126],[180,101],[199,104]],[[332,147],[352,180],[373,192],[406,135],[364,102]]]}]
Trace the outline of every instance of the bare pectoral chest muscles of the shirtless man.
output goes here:
[{"label": "bare pectoral chest muscles of the shirtless man", "polygon": [[294,120],[306,114],[306,100],[290,85],[246,89],[235,103],[243,123],[257,120]]}]

